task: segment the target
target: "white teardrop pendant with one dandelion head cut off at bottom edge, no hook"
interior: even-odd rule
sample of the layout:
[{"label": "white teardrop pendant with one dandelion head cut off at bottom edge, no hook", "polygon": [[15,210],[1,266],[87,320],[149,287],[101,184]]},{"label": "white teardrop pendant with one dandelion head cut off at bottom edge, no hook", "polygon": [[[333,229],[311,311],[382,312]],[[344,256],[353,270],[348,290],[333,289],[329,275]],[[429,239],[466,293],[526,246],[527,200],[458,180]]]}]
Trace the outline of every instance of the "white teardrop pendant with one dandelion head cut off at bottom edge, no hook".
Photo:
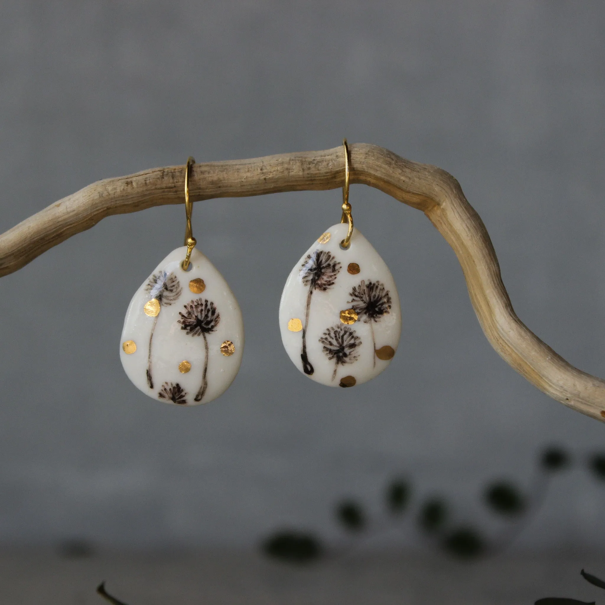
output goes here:
[{"label": "white teardrop pendant with one dandelion head cut off at bottom edge, no hook", "polygon": [[129,379],[166,403],[206,404],[233,382],[244,349],[240,306],[199,250],[173,250],[132,297],[120,343]]}]

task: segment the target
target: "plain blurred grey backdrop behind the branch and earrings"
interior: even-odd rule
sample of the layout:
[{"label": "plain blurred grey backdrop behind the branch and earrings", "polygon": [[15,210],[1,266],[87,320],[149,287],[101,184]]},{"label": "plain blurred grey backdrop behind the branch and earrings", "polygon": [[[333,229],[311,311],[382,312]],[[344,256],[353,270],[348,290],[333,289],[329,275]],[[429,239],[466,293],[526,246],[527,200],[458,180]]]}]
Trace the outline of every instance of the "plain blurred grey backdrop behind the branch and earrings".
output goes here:
[{"label": "plain blurred grey backdrop behind the branch and earrings", "polygon": [[[605,376],[603,2],[2,2],[0,231],[105,177],[154,166],[385,146],[460,181],[515,310]],[[454,253],[420,212],[353,186],[393,272],[399,352],[325,388],[293,367],[277,312],[341,192],[195,204],[194,234],[244,314],[218,401],[148,399],[119,361],[126,306],[181,245],[183,206],[110,217],[0,282],[0,540],[250,546],[283,526],[339,539],[340,497],[374,512],[392,476],[475,518],[540,448],[578,459],[604,427],[492,350]],[[518,548],[598,547],[605,485],[555,481]],[[479,517],[479,523],[486,521]],[[394,538],[384,537],[386,544]],[[417,545],[410,529],[399,545]]]}]

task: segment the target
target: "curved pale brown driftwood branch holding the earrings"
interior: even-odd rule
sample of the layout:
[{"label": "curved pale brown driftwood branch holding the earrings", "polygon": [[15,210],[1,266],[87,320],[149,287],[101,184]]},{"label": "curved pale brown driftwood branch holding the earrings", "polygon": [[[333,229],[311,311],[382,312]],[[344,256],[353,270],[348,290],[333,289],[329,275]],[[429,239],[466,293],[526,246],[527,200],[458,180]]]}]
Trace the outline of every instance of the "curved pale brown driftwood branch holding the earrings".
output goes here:
[{"label": "curved pale brown driftwood branch holding the earrings", "polygon": [[[458,181],[435,166],[387,149],[350,146],[351,182],[384,191],[424,212],[456,252],[485,336],[518,373],[574,410],[605,420],[605,381],[568,364],[515,315],[483,221]],[[0,276],[21,269],[49,248],[112,214],[183,203],[183,166],[108,178],[80,189],[0,235]],[[342,186],[342,148],[195,164],[194,201]]]}]

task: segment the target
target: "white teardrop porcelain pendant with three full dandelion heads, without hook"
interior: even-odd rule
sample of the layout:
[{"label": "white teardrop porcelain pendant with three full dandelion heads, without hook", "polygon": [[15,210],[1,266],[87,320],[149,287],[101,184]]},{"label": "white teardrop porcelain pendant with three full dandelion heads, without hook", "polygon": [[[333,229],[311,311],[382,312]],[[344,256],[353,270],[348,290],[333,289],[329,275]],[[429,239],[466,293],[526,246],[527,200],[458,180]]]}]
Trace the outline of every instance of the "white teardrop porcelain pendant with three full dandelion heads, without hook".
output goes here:
[{"label": "white teardrop porcelain pendant with three full dandelion heads, without hook", "polygon": [[281,339],[316,382],[353,387],[384,370],[397,350],[401,310],[395,282],[370,242],[339,223],[296,263],[280,302]]}]

